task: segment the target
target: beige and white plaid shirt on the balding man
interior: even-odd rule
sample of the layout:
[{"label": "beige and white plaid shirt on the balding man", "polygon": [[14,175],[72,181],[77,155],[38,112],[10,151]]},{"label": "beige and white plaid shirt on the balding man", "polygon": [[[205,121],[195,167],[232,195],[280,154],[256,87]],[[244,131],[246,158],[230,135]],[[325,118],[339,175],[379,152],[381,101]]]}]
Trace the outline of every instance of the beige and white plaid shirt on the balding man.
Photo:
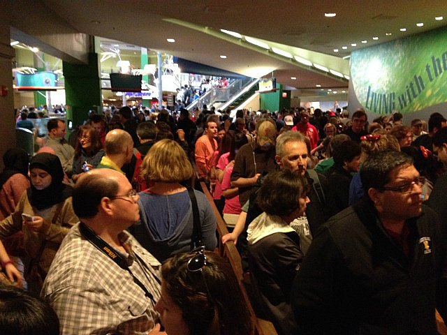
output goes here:
[{"label": "beige and white plaid shirt on the balding man", "polygon": [[[157,301],[160,263],[128,232],[119,237],[129,268]],[[135,262],[134,254],[144,264]],[[145,271],[142,269],[145,267]],[[133,277],[82,237],[73,226],[57,252],[41,295],[56,311],[61,334],[147,334],[158,314]]]}]

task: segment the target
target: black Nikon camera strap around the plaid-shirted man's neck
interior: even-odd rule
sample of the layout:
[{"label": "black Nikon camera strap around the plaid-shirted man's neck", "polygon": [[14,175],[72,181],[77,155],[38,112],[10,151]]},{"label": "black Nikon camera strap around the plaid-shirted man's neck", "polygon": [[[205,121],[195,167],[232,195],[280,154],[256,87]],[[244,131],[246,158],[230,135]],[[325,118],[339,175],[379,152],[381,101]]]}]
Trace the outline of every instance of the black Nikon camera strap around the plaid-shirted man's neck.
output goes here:
[{"label": "black Nikon camera strap around the plaid-shirted man's neck", "polygon": [[[122,255],[117,253],[117,251],[115,251],[115,249],[112,248],[112,246],[110,246],[110,244],[108,244],[106,241],[101,239],[101,237],[98,237],[98,235],[95,234],[90,228],[88,228],[87,225],[85,225],[85,223],[81,222],[79,224],[79,231],[81,232],[82,236],[85,237],[85,239],[87,239],[87,241],[89,241],[91,244],[96,246],[96,248],[99,251],[101,251],[101,253],[103,253],[104,255],[107,255],[108,258],[113,260],[122,269],[129,271],[129,274],[131,274],[135,284],[140,286],[140,288],[143,291],[145,291],[146,297],[151,299],[152,302],[154,304],[156,304],[156,301],[154,300],[154,295],[152,295],[152,293],[149,292],[149,290],[147,290],[145,285],[143,283],[141,283],[140,279],[135,277],[135,275],[132,273],[131,269],[129,268],[129,265],[127,265],[127,261],[122,257]],[[147,277],[145,269],[142,267],[140,262],[138,262],[138,255],[136,255],[136,254],[135,254],[135,260],[137,261],[138,265],[140,265],[142,271],[145,273],[145,276]],[[149,280],[149,278],[148,278],[148,280]]]}]

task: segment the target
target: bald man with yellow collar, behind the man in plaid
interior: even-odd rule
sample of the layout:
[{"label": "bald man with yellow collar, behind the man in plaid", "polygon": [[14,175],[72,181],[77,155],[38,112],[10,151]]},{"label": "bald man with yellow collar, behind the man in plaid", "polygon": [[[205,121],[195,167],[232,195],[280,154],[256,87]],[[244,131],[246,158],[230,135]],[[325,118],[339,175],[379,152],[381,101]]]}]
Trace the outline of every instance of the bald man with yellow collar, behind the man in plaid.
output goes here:
[{"label": "bald man with yellow collar, behind the man in plaid", "polygon": [[131,163],[133,156],[133,140],[131,135],[122,129],[109,131],[105,135],[105,156],[98,164],[98,168],[108,168],[118,171],[124,164]]}]

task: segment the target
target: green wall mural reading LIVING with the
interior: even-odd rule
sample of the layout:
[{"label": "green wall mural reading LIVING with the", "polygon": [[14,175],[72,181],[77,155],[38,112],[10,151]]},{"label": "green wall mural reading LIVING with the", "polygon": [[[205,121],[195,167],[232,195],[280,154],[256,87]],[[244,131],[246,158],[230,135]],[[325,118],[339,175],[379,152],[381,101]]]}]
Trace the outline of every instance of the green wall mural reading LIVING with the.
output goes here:
[{"label": "green wall mural reading LIVING with the", "polygon": [[358,101],[376,114],[416,112],[447,101],[447,27],[351,53]]}]

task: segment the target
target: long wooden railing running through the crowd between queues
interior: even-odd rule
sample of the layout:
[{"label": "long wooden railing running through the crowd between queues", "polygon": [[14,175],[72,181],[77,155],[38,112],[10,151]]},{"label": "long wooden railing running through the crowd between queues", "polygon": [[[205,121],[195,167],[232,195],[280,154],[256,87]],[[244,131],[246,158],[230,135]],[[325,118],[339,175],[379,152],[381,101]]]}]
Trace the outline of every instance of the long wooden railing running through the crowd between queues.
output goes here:
[{"label": "long wooden railing running through the crowd between queues", "polygon": [[[197,177],[197,170],[196,166],[193,164],[194,170],[196,171],[196,178]],[[193,185],[196,184],[195,180],[193,179]],[[233,271],[235,273],[235,276],[237,278],[237,282],[239,283],[240,290],[242,291],[242,295],[244,297],[245,302],[247,303],[247,306],[249,308],[249,314],[251,317],[251,320],[254,323],[255,327],[255,334],[256,335],[277,335],[276,330],[274,329],[274,326],[272,322],[263,320],[261,318],[258,318],[253,305],[251,304],[251,300],[249,298],[249,295],[247,294],[247,289],[244,284],[244,271],[242,270],[242,264],[240,260],[240,255],[237,252],[237,248],[233,241],[228,241],[226,244],[222,243],[222,237],[224,234],[228,234],[228,229],[226,228],[226,223],[223,221],[223,218],[221,214],[219,213],[219,210],[217,209],[216,205],[214,204],[214,200],[212,198],[212,195],[210,191],[208,190],[206,184],[203,181],[200,181],[200,188],[207,197],[208,202],[210,202],[210,205],[212,207],[212,210],[214,212],[214,216],[216,216],[217,221],[217,232],[219,233],[219,244],[217,246],[219,255],[223,258],[226,258],[228,262],[230,262],[231,267],[233,268]]]}]

